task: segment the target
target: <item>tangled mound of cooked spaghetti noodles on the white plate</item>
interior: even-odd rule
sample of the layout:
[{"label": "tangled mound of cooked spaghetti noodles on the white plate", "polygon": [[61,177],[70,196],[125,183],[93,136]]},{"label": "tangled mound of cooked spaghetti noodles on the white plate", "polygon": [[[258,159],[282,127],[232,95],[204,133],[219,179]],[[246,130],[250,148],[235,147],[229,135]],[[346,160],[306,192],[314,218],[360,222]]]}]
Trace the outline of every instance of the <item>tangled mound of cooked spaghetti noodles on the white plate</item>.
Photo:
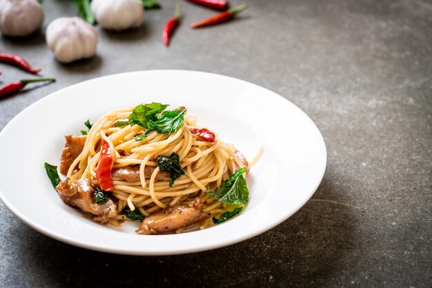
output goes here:
[{"label": "tangled mound of cooked spaghetti noodles on the white plate", "polygon": [[[184,107],[179,110],[184,110]],[[180,125],[170,134],[130,123],[128,119],[134,111],[133,107],[113,110],[94,123],[82,152],[73,160],[66,174],[70,182],[88,179],[92,187],[102,187],[98,169],[104,165],[101,159],[108,151],[108,157],[113,159],[110,167],[112,189],[106,194],[117,205],[117,216],[109,218],[108,223],[120,225],[127,219],[125,211],[139,212],[143,216],[168,215],[173,208],[191,207],[209,215],[204,217],[205,220],[193,223],[204,229],[214,225],[215,217],[229,214],[244,205],[238,201],[229,203],[214,197],[215,193],[208,193],[209,189],[216,194],[225,193],[218,192],[218,187],[235,184],[237,180],[232,179],[233,174],[240,168],[248,169],[246,158],[233,145],[222,142],[214,135],[213,138],[208,137],[208,133],[213,132],[199,127],[197,118],[186,114],[186,111]],[[154,114],[153,119],[161,113]],[[101,148],[104,143],[108,144],[106,150]],[[161,171],[164,166],[160,162],[172,161],[169,157],[174,155],[183,172],[180,171],[173,180],[173,172]],[[244,174],[239,177],[243,181]],[[226,191],[233,192],[229,188]],[[181,232],[189,226],[186,221],[185,225],[175,230]]]}]

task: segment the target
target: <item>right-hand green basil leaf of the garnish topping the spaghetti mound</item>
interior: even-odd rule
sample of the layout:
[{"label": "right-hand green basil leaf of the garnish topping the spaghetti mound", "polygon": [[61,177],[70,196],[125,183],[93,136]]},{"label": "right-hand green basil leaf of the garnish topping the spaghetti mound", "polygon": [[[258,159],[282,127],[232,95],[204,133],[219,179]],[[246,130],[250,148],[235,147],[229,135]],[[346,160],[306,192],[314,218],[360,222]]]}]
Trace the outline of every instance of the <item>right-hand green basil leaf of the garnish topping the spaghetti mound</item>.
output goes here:
[{"label": "right-hand green basil leaf of the garnish topping the spaghetti mound", "polygon": [[172,134],[177,131],[184,122],[184,113],[186,110],[164,111],[156,115],[156,120],[148,121],[147,130],[156,130],[159,133]]}]

